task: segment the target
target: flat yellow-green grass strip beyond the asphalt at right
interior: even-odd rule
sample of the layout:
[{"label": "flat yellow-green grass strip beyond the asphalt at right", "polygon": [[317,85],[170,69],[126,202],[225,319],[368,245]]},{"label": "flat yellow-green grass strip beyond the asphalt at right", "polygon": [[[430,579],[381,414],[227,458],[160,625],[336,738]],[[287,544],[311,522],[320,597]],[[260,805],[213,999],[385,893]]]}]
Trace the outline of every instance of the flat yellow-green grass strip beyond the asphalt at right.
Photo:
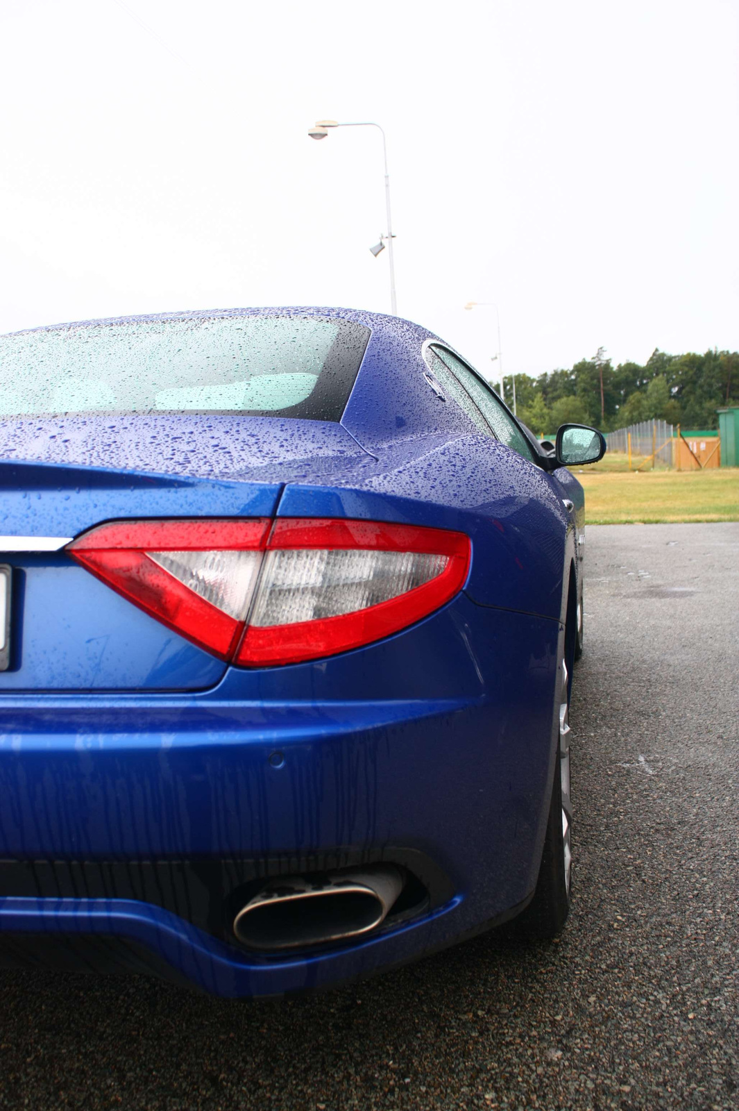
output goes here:
[{"label": "flat yellow-green grass strip beyond the asphalt at right", "polygon": [[598,471],[573,468],[585,488],[588,524],[739,521],[739,468]]}]

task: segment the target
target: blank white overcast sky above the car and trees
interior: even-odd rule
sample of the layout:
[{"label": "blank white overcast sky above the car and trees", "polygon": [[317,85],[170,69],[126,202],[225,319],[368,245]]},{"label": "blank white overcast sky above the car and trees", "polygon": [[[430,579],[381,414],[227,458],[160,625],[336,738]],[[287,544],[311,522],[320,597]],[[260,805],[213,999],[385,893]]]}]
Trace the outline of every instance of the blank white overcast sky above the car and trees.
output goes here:
[{"label": "blank white overcast sky above the car and trees", "polygon": [[[141,20],[145,27],[142,27]],[[161,41],[159,41],[161,40]],[[739,0],[0,0],[0,332],[398,312],[493,377],[739,347]]]}]

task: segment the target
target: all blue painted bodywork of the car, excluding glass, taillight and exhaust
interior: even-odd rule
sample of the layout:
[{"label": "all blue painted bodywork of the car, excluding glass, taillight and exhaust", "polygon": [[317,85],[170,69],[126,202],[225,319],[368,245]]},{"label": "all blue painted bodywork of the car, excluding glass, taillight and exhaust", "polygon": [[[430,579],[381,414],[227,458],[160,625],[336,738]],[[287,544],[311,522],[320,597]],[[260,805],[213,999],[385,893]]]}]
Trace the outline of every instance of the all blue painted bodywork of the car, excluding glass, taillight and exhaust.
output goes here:
[{"label": "all blue painted bodywork of the car, excluding glass, taillight and exhaust", "polygon": [[126,937],[206,990],[271,994],[417,955],[530,893],[576,562],[561,499],[579,506],[571,491],[581,488],[437,400],[423,377],[424,329],[331,311],[372,329],[341,426],[198,414],[3,421],[0,532],[74,536],[121,517],[408,521],[472,537],[465,591],[363,650],[249,671],[182,641],[63,553],[3,557],[24,570],[26,599],[22,659],[0,677],[0,857],[267,858],[395,844],[437,862],[454,897],[377,938],[292,960],[250,958],[122,899],[0,899],[0,930]]}]

